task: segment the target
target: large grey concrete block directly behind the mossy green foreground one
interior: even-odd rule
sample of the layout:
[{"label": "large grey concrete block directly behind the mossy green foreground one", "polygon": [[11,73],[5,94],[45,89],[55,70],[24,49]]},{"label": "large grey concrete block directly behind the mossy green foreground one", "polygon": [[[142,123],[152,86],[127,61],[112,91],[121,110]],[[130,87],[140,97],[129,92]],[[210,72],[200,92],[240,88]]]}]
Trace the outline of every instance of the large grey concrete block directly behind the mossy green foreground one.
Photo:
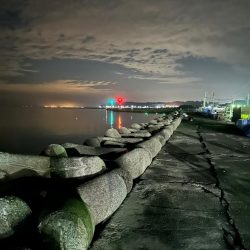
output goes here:
[{"label": "large grey concrete block directly behind the mossy green foreground one", "polygon": [[121,205],[132,188],[132,177],[122,169],[114,169],[77,188],[89,207],[95,224],[107,219]]}]

